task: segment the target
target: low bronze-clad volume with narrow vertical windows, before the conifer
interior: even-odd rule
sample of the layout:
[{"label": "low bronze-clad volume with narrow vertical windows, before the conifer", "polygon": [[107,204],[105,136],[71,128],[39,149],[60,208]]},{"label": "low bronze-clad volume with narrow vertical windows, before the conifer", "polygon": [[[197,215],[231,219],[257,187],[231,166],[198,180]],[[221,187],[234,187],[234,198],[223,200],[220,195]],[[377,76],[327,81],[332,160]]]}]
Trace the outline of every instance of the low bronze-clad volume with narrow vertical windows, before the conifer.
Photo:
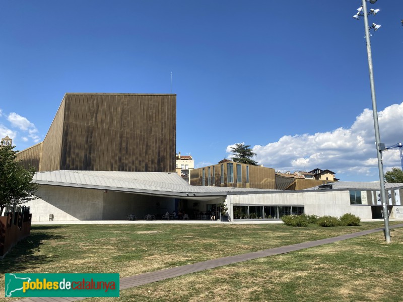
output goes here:
[{"label": "low bronze-clad volume with narrow vertical windows, before the conifer", "polygon": [[275,170],[223,160],[190,173],[192,186],[276,189]]}]

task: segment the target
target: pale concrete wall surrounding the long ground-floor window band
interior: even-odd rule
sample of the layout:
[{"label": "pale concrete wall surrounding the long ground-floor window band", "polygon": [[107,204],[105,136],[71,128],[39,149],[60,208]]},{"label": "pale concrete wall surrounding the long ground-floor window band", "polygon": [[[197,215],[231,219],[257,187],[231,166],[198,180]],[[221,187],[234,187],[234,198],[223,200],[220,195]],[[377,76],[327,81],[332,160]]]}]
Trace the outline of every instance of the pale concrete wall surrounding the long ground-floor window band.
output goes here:
[{"label": "pale concrete wall surrounding the long ground-floor window band", "polygon": [[342,216],[352,213],[361,219],[372,219],[371,207],[350,205],[349,191],[287,192],[272,194],[228,195],[228,212],[233,219],[234,205],[298,205],[305,214]]}]

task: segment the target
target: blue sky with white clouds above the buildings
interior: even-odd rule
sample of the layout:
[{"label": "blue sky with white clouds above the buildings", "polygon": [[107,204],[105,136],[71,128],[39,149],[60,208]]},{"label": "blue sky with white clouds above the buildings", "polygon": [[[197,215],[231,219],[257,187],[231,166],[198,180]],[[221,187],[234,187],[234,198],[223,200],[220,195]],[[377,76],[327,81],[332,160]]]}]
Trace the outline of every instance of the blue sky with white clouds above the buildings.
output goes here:
[{"label": "blue sky with white clouds above the buildings", "polygon": [[[177,94],[177,152],[198,167],[245,142],[282,172],[378,179],[361,2],[0,0],[0,135],[43,140],[66,92]],[[386,145],[403,142],[403,2],[371,46]],[[400,167],[398,150],[385,170]]]}]

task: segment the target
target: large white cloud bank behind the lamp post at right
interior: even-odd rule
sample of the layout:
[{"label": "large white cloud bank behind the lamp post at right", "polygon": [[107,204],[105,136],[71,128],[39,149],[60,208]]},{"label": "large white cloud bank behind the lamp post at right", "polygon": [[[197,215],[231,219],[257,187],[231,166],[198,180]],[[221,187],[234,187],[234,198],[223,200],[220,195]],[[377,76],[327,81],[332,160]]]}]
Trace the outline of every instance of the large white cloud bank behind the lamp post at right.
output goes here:
[{"label": "large white cloud bank behind the lamp post at right", "polygon": [[[403,142],[403,103],[378,112],[381,141],[387,146]],[[231,146],[227,146],[230,153]],[[372,110],[364,109],[350,128],[315,134],[285,135],[279,141],[255,145],[255,160],[280,171],[329,169],[345,175],[377,175]],[[400,167],[398,148],[383,153],[387,167]],[[373,168],[376,169],[373,169]],[[386,169],[385,169],[386,171]],[[337,175],[336,175],[337,176]]]}]

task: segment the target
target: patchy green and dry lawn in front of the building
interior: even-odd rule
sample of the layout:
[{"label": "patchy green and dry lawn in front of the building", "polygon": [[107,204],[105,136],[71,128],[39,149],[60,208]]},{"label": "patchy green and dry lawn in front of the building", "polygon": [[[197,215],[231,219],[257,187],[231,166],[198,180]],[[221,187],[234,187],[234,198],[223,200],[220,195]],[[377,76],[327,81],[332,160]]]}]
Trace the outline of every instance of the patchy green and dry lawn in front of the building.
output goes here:
[{"label": "patchy green and dry lawn in front of the building", "polygon": [[[391,222],[398,223],[398,222]],[[0,262],[7,272],[121,277],[373,229],[284,224],[33,225]],[[261,258],[121,291],[123,301],[401,301],[403,230]],[[0,280],[4,296],[4,275]],[[382,289],[384,286],[385,289]],[[111,300],[92,298],[89,301]]]}]

